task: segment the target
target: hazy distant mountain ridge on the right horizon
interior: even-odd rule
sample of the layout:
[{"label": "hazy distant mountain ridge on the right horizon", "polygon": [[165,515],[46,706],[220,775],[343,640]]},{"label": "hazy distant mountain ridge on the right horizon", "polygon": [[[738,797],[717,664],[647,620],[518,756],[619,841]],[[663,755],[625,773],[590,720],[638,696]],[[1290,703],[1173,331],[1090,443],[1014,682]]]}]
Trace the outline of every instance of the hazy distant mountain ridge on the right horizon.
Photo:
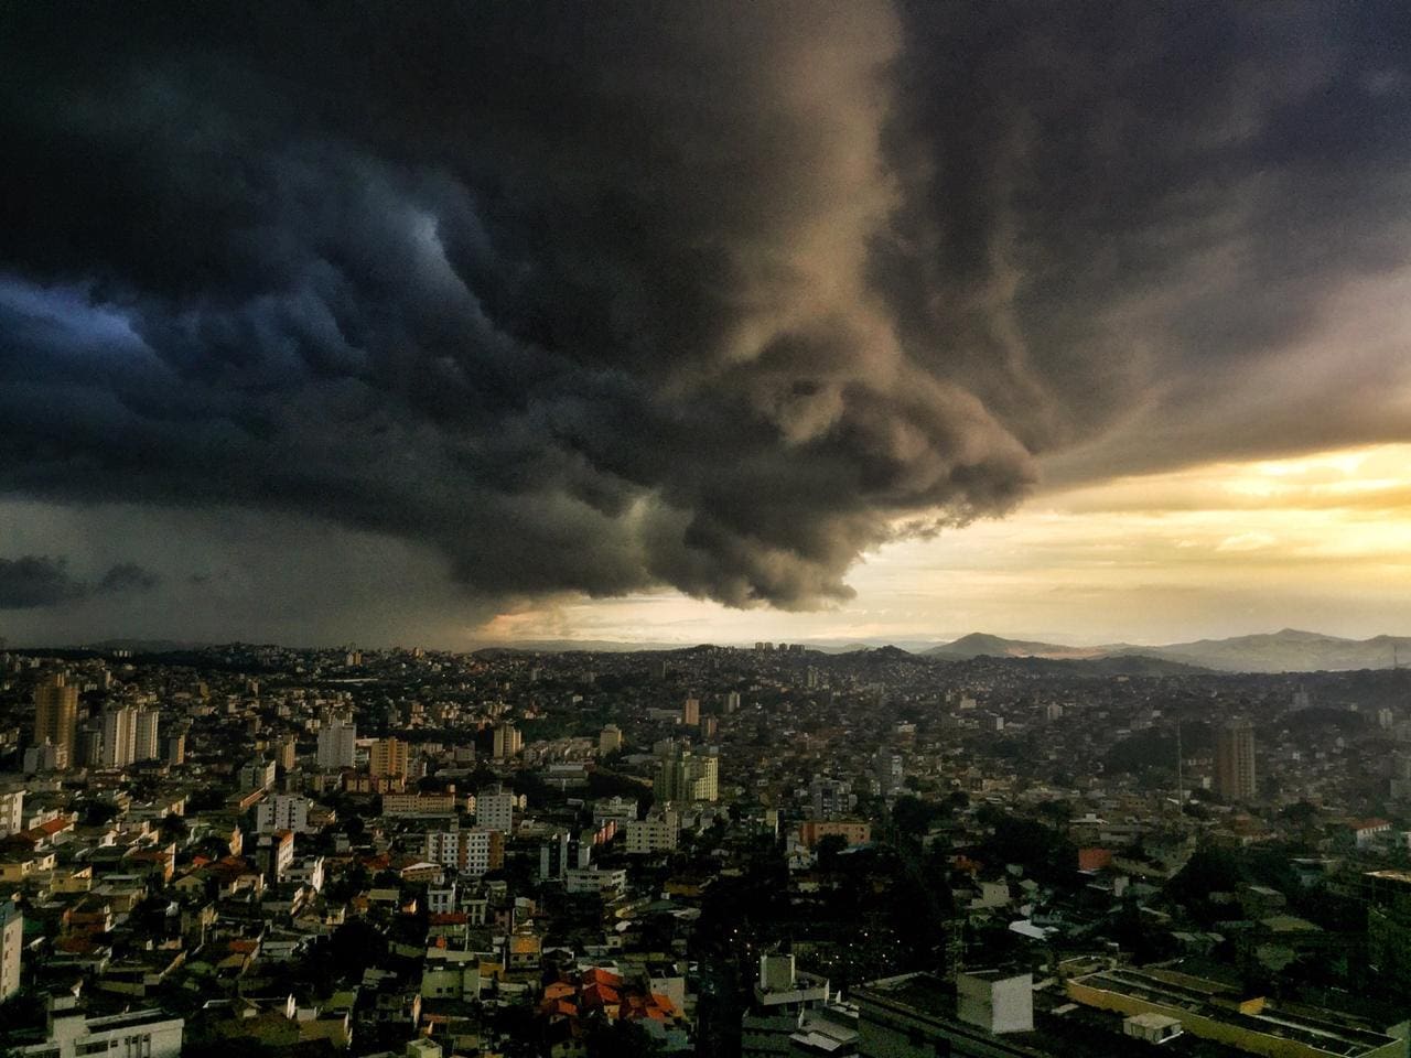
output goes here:
[{"label": "hazy distant mountain ridge on the right horizon", "polygon": [[1103,646],[1060,646],[1024,639],[972,633],[926,652],[930,657],[1046,657],[1079,660],[1099,657],[1147,657],[1237,673],[1308,673],[1319,670],[1390,669],[1394,660],[1411,664],[1411,636],[1343,639],[1321,632],[1285,628],[1280,632],[1230,639],[1198,639],[1165,646],[1108,643]]}]

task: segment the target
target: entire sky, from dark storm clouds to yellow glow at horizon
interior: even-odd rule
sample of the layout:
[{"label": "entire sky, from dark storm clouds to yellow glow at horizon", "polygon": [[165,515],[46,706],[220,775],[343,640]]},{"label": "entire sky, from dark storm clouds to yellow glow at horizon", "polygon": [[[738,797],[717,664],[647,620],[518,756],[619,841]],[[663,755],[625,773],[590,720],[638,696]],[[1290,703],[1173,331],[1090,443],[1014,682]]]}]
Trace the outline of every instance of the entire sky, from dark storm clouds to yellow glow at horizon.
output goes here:
[{"label": "entire sky, from dark storm clouds to yellow glow at horizon", "polygon": [[0,11],[0,638],[1411,632],[1394,3]]}]

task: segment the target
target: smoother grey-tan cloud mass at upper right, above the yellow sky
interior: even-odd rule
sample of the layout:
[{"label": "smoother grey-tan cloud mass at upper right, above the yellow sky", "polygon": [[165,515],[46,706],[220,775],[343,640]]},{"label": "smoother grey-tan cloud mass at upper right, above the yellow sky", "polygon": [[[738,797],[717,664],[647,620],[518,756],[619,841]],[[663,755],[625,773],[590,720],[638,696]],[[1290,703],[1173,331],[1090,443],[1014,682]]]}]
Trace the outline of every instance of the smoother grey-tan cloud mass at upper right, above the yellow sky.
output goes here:
[{"label": "smoother grey-tan cloud mass at upper right, above the yellow sky", "polygon": [[902,10],[876,282],[1027,446],[1098,442],[1050,470],[1411,436],[1404,330],[1376,348],[1336,302],[1404,288],[1404,6]]}]

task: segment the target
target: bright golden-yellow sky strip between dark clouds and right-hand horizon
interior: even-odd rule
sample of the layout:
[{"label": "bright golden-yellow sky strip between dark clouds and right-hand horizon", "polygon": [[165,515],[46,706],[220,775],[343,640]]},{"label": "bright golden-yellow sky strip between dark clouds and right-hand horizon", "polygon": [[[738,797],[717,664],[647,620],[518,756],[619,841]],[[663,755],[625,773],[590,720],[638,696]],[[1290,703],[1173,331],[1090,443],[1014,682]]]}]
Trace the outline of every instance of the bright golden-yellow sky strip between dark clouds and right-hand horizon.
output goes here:
[{"label": "bright golden-yellow sky strip between dark clouds and right-hand horizon", "polygon": [[739,612],[674,595],[525,607],[476,642],[1174,642],[1284,626],[1411,631],[1411,444],[1221,461],[1043,494],[1002,521],[886,545],[858,602]]}]

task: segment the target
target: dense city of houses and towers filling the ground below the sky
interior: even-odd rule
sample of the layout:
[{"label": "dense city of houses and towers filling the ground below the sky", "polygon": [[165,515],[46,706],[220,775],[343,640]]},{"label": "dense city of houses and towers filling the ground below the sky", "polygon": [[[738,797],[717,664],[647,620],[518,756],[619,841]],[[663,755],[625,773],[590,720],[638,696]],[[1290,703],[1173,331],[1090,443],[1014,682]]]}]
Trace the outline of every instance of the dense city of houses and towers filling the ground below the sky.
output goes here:
[{"label": "dense city of houses and towers filling the ground below the sky", "polygon": [[0,653],[30,1058],[1407,1055],[1411,673]]}]

